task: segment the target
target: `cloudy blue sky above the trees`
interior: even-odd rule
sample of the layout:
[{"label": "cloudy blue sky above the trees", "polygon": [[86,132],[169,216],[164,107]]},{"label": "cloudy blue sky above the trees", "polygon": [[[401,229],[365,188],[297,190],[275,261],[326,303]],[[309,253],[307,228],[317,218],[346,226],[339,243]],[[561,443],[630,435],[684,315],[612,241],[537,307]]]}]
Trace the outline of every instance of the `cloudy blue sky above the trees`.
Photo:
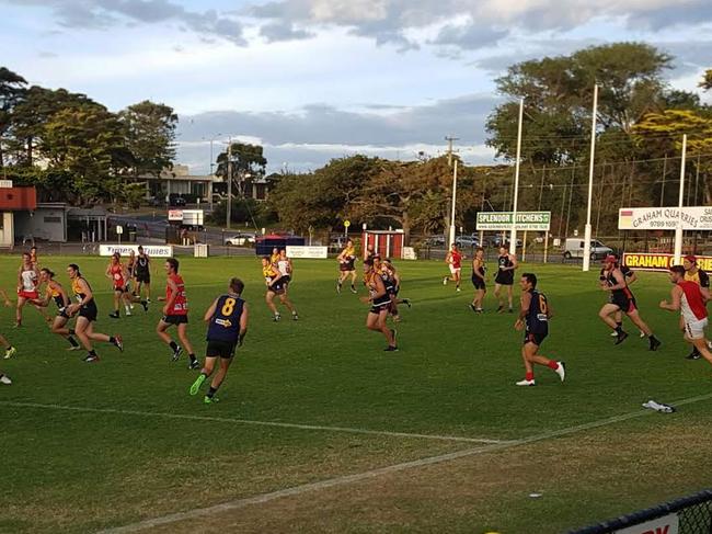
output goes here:
[{"label": "cloudy blue sky above the trees", "polygon": [[171,105],[176,162],[198,174],[228,138],[263,145],[269,171],[437,156],[446,136],[489,163],[508,66],[639,41],[675,56],[673,87],[697,91],[709,1],[0,0],[0,66],[112,111]]}]

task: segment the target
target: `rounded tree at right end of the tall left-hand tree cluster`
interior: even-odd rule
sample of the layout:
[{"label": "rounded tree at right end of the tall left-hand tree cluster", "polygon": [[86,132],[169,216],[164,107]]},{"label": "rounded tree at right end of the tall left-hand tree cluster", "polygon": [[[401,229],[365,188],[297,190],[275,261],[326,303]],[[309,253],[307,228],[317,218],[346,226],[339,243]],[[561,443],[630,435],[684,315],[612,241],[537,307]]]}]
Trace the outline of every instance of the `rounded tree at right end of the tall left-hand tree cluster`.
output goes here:
[{"label": "rounded tree at right end of the tall left-hand tree cluster", "polygon": [[158,177],[170,169],[175,159],[175,126],[173,107],[145,100],[118,114],[126,137],[127,156],[134,177]]}]

